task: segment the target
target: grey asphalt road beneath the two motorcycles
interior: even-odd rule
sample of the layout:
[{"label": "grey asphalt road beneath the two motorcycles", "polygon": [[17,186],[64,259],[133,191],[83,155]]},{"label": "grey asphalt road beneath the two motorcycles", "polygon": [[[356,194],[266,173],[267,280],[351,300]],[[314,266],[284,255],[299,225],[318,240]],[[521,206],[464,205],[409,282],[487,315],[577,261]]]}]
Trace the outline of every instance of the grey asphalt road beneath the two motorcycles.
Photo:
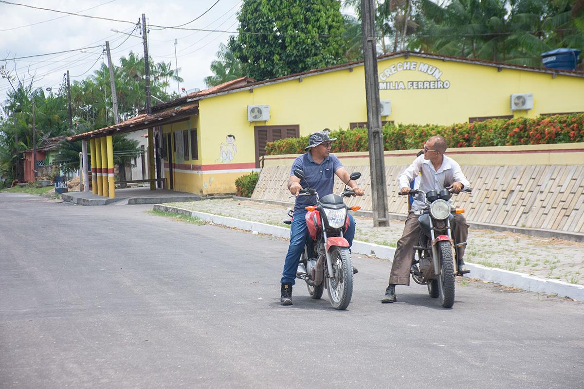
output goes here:
[{"label": "grey asphalt road beneath the two motorcycles", "polygon": [[333,310],[285,240],[0,194],[0,388],[583,388],[584,304],[470,282],[381,304],[390,262],[354,258]]}]

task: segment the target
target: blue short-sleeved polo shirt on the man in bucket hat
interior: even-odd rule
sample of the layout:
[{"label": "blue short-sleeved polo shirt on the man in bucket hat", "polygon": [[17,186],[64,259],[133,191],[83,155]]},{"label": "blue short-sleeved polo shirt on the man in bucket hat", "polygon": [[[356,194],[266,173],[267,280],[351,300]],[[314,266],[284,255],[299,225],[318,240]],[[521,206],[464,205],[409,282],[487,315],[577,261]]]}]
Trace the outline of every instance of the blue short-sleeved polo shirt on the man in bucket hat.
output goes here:
[{"label": "blue short-sleeved polo shirt on the man in bucket hat", "polygon": [[[312,188],[317,190],[320,198],[331,194],[333,184],[335,183],[335,171],[343,167],[339,159],[329,154],[321,163],[314,162],[310,152],[297,157],[290,169],[290,176],[294,176],[294,169],[304,171],[305,178],[300,180],[302,188]],[[304,209],[307,205],[314,205],[316,201],[315,196],[298,196],[296,198],[296,205],[294,211]]]}]

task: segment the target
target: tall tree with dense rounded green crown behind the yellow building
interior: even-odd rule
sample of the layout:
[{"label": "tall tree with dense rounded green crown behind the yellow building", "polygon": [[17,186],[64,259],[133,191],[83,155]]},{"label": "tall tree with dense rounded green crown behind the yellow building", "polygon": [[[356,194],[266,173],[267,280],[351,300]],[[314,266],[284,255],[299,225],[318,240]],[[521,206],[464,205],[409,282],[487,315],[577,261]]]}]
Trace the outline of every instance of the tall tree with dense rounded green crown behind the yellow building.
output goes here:
[{"label": "tall tree with dense rounded green crown behind the yellow building", "polygon": [[229,48],[256,80],[344,61],[343,16],[336,0],[244,0]]}]

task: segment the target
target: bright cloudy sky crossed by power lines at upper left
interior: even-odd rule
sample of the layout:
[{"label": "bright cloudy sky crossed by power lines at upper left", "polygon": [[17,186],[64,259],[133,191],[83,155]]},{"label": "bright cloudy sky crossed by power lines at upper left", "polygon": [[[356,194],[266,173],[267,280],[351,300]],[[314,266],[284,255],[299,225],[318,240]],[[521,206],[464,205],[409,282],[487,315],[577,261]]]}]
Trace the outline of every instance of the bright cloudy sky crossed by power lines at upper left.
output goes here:
[{"label": "bright cloudy sky crossed by power lines at upper left", "polygon": [[[0,1],[0,65],[20,79],[29,82],[34,76],[34,86],[58,88],[63,74],[69,71],[71,79],[84,79],[102,61],[105,41],[112,49],[112,61],[119,64],[119,58],[130,50],[143,55],[142,40],[138,30],[128,36],[112,30],[131,33],[133,23],[142,13],[146,14],[147,24],[158,26],[178,26],[190,22],[206,12],[199,19],[186,24],[185,28],[205,30],[237,30],[237,12],[241,0],[6,0]],[[90,19],[87,17],[65,15],[50,10],[33,9],[22,5],[50,8],[59,11],[80,13],[89,16],[116,19],[119,21]],[[215,5],[214,5],[215,4]],[[126,23],[124,21],[130,22]],[[152,26],[148,34],[150,57],[155,62],[175,62],[176,55],[180,76],[185,79],[180,87],[187,90],[204,89],[203,78],[211,75],[209,66],[215,59],[220,43],[227,43],[232,35],[224,32],[192,31],[178,29],[159,29]],[[84,47],[84,50],[74,50]],[[29,57],[51,52],[68,51],[62,54]],[[171,85],[177,90],[176,84]],[[0,102],[6,99],[10,89],[5,79],[0,79]],[[171,92],[171,90],[169,90]]]}]

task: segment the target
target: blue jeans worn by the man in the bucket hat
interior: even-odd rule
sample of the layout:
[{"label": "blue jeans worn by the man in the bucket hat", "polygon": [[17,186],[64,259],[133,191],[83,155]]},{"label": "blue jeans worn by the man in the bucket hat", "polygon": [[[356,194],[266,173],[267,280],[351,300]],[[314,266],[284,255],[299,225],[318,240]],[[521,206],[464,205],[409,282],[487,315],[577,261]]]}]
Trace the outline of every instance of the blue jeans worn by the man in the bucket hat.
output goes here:
[{"label": "blue jeans worn by the man in the bucket hat", "polygon": [[[300,262],[300,257],[304,251],[306,241],[310,239],[308,226],[304,219],[307,212],[306,209],[294,210],[294,219],[290,226],[290,246],[288,246],[288,254],[286,254],[286,261],[284,261],[284,270],[282,272],[282,279],[280,280],[281,283],[291,283],[292,285],[296,283],[296,269],[298,268],[298,262]],[[352,246],[353,238],[355,237],[355,220],[352,215],[349,214],[347,216],[349,217],[349,228],[347,228],[343,237],[349,242],[350,247]]]}]

